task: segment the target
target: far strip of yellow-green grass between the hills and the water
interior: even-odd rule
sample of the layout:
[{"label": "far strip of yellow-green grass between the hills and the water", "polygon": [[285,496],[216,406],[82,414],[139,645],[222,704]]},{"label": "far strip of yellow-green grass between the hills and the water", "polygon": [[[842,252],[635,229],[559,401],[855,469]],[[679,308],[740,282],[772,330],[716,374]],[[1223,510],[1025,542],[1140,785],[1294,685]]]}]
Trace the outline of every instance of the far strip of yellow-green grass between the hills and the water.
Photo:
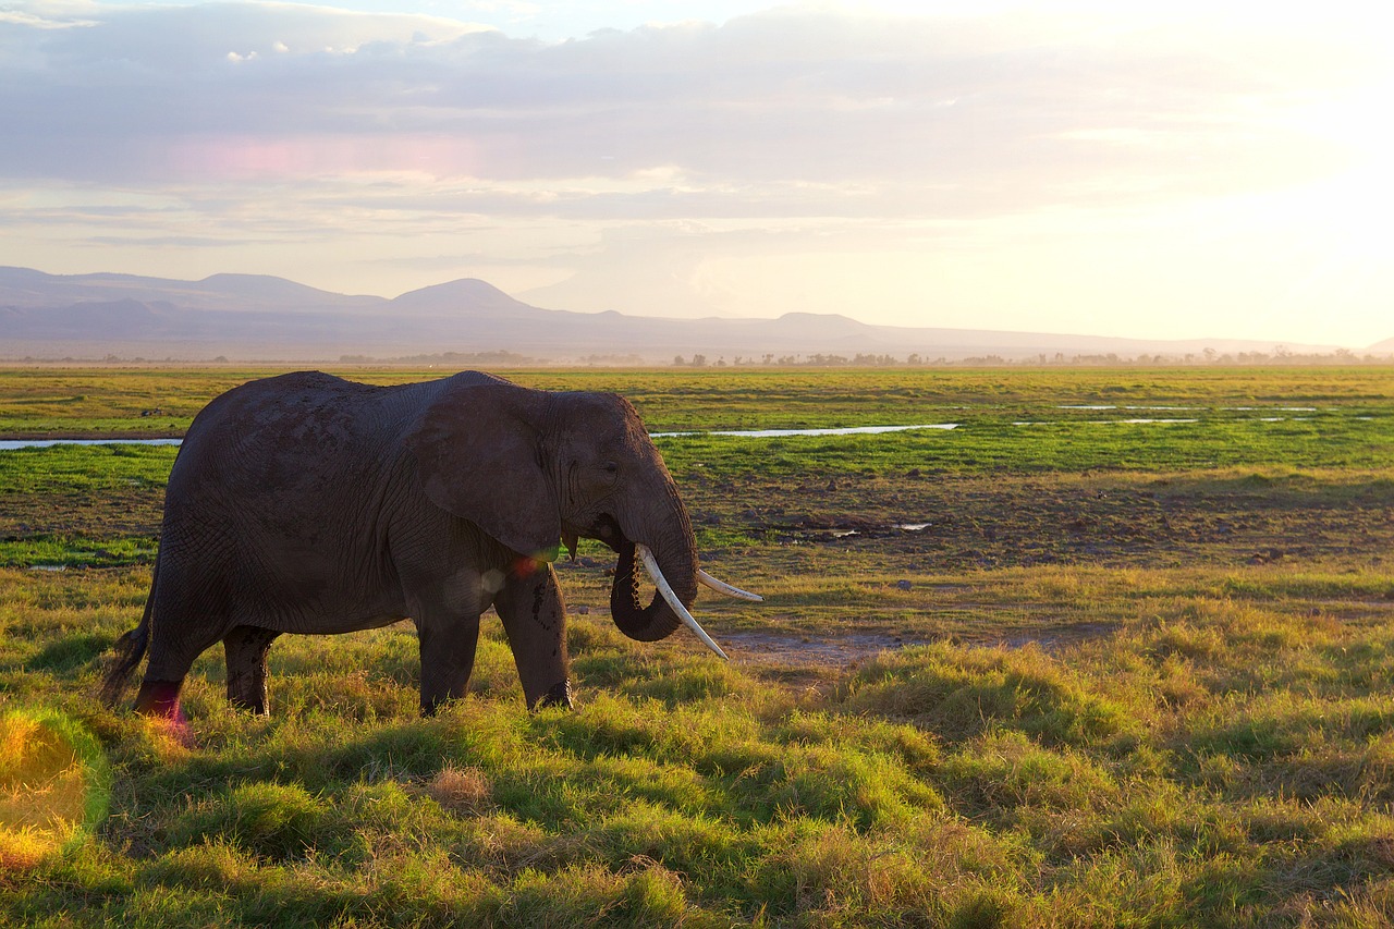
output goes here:
[{"label": "far strip of yellow-green grass between the hills and the water", "polygon": [[[178,435],[212,396],[277,370],[10,368],[0,370],[3,434]],[[438,370],[332,368],[372,384],[443,377]],[[1086,418],[1061,406],[1316,406],[1322,411],[1372,410],[1387,418],[1394,402],[1390,368],[1158,368],[1158,370],[520,370],[499,371],[544,389],[602,389],[625,395],[654,431],[894,425],[959,421],[965,414],[1002,421]],[[159,410],[156,414],[155,411]],[[1037,416],[1048,411],[1048,417]],[[1132,410],[1184,418],[1197,411]],[[148,416],[142,416],[148,414]],[[1276,413],[1277,414],[1277,413]],[[1289,416],[1298,416],[1292,413]]]}]

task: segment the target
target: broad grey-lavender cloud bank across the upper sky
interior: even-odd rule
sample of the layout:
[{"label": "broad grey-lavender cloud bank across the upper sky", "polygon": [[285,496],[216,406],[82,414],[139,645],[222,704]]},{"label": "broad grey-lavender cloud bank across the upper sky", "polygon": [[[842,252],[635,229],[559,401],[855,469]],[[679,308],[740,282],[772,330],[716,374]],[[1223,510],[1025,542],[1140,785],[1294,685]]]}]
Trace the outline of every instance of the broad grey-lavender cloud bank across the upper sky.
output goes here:
[{"label": "broad grey-lavender cloud bank across the upper sky", "polygon": [[841,211],[856,184],[868,211],[953,211],[1262,187],[1331,156],[1246,119],[1320,74],[1276,78],[1157,36],[1043,46],[1005,20],[775,11],[541,43],[286,4],[84,10],[81,28],[0,25],[0,120],[25,139],[0,151],[6,176],[576,188],[673,166],[737,213],[757,190],[775,209],[796,191]]}]

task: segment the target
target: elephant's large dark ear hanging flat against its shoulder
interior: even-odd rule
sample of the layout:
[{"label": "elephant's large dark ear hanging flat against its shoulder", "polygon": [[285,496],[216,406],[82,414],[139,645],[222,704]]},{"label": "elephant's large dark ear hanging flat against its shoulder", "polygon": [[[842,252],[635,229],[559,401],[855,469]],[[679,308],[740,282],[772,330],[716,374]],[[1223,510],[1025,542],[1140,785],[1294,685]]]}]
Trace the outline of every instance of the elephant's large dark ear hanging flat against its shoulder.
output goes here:
[{"label": "elephant's large dark ear hanging flat against its shoulder", "polygon": [[562,522],[542,470],[542,399],[506,384],[445,391],[407,434],[421,488],[513,551],[552,561]]}]

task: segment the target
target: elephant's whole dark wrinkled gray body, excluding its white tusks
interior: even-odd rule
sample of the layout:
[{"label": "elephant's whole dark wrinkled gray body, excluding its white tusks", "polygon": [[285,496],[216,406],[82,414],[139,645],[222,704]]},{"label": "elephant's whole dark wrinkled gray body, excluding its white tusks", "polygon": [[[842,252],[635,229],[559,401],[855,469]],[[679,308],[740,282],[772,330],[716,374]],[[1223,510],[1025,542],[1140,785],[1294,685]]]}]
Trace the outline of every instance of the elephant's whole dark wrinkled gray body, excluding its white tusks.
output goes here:
[{"label": "elephant's whole dark wrinkled gray body, excluding its white tusks", "polygon": [[480,614],[495,607],[530,707],[570,704],[560,538],[619,552],[616,625],[651,642],[679,618],[637,597],[634,544],[679,600],[697,593],[691,523],[634,409],[463,372],[369,386],[321,372],[252,381],[194,420],[170,474],[151,596],[117,642],[120,697],[146,649],[135,707],[177,717],[194,660],[222,642],[227,697],[266,711],[283,633],[411,618],[421,710],[464,695]]}]

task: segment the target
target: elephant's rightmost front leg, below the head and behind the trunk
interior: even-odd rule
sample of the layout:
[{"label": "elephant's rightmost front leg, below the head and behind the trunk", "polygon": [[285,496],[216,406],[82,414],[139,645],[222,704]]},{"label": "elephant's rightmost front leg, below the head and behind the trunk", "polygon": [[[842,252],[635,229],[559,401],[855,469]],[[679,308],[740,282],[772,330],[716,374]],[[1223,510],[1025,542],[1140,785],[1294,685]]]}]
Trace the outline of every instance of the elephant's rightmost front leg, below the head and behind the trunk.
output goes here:
[{"label": "elephant's rightmost front leg, below the head and behind the trunk", "polygon": [[503,630],[513,647],[513,660],[523,682],[528,709],[572,706],[567,679],[566,604],[548,562],[534,562],[534,569],[514,568],[503,589],[493,598],[493,608],[503,619]]}]

